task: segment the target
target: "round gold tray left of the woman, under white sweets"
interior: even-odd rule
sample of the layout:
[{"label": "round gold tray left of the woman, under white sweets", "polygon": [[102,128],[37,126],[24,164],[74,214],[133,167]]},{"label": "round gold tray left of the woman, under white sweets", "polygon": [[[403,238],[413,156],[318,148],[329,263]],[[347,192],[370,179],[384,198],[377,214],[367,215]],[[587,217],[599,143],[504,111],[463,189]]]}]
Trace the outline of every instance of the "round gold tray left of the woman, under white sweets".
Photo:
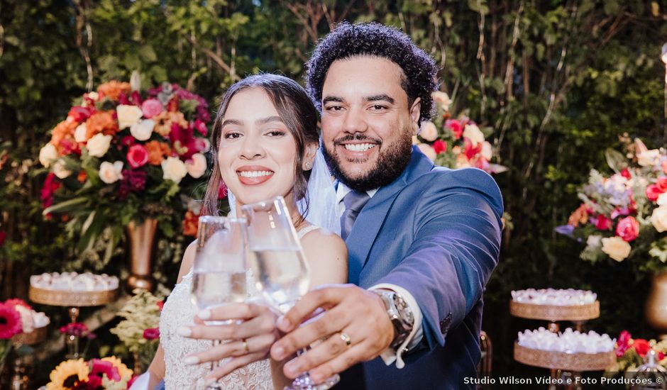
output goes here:
[{"label": "round gold tray left of the woman, under white sweets", "polygon": [[118,289],[104,291],[65,291],[30,286],[28,298],[50,306],[101,306],[116,301]]}]

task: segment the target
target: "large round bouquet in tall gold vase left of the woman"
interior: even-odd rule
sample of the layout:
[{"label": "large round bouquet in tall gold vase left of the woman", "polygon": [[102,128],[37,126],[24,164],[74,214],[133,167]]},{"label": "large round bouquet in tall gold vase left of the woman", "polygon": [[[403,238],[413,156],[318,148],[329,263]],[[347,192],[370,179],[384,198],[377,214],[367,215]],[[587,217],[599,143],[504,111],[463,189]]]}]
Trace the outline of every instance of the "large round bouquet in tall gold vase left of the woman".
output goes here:
[{"label": "large round bouquet in tall gold vase left of the woman", "polygon": [[40,196],[45,216],[63,214],[68,231],[81,234],[79,250],[108,227],[111,247],[124,225],[144,218],[167,220],[158,226],[172,236],[187,196],[203,188],[209,121],[206,101],[176,84],[145,94],[127,82],[101,84],[70,109],[40,150],[49,171]]}]

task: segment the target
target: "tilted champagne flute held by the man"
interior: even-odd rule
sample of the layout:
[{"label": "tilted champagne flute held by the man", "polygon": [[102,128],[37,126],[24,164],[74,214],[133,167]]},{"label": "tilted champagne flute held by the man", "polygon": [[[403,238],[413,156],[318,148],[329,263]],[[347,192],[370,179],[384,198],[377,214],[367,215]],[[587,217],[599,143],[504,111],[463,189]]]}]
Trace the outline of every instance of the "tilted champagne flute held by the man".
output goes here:
[{"label": "tilted champagne flute held by the man", "polygon": [[[248,218],[248,249],[255,284],[280,313],[290,311],[309,289],[308,264],[282,196],[241,207]],[[306,349],[299,353],[301,355]],[[338,374],[314,384],[308,372],[285,390],[327,390],[340,381]]]}]

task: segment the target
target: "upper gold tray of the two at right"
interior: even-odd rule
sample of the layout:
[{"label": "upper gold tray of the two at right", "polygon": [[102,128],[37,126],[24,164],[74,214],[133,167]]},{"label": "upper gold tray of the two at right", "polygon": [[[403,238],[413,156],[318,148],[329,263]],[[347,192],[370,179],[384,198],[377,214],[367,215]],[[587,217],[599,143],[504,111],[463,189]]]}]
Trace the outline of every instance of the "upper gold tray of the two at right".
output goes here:
[{"label": "upper gold tray of the two at right", "polygon": [[600,317],[600,301],[584,305],[538,305],[509,301],[509,313],[515,317],[544,321],[586,321]]}]

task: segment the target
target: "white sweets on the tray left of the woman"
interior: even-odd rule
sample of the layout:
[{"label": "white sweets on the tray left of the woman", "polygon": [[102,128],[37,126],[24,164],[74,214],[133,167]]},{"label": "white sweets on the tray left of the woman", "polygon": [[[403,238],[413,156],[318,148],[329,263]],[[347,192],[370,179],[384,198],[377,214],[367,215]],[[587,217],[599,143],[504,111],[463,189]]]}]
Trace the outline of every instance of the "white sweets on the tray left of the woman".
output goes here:
[{"label": "white sweets on the tray left of the woman", "polygon": [[33,287],[62,291],[106,291],[118,288],[118,278],[107,274],[77,274],[77,272],[52,272],[32,275],[30,284]]}]

